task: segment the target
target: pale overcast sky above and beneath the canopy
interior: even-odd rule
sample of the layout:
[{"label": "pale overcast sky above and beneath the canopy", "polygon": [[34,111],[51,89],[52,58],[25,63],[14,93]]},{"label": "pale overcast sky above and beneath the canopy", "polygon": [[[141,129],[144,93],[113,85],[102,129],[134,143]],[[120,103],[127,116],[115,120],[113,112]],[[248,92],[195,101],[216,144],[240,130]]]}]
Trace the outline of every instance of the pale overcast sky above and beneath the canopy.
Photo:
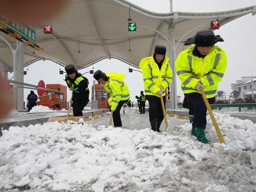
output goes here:
[{"label": "pale overcast sky above and beneath the canopy", "polygon": [[[142,8],[153,12],[170,12],[169,0],[129,0]],[[256,0],[173,0],[173,11],[179,12],[219,12],[225,10],[234,10],[247,6],[256,5]],[[224,42],[217,43],[218,46],[226,51],[228,58],[228,67],[224,74],[222,82],[219,83],[218,90],[224,90],[230,94],[231,84],[236,80],[241,80],[242,76],[256,76],[255,67],[255,38],[256,16],[248,14],[238,18],[228,24],[221,26],[219,30],[215,30],[215,34],[219,34]],[[196,33],[196,31],[195,31]],[[167,55],[168,56],[168,55]],[[64,75],[59,74],[59,66],[53,62],[40,61],[28,67],[28,73],[24,76],[24,82],[37,85],[39,80],[44,80],[46,84],[63,84]],[[126,76],[124,81],[130,89],[131,100],[136,101],[135,96],[140,94],[140,90],[144,90],[142,73],[128,72],[129,66],[118,60],[103,60],[94,65],[94,72],[98,69],[103,72],[120,72]],[[24,68],[26,70],[27,68]],[[64,68],[61,67],[62,70]],[[82,74],[92,70],[92,66],[80,70]],[[43,74],[43,75],[42,75]],[[90,87],[93,84],[92,74],[85,74],[90,81]],[[12,77],[12,74],[10,74]],[[9,78],[10,79],[10,78]],[[68,91],[69,92],[69,91]],[[24,89],[24,100],[30,93],[30,90]],[[177,95],[184,97],[180,80],[177,78]],[[68,98],[71,93],[68,94]]]}]

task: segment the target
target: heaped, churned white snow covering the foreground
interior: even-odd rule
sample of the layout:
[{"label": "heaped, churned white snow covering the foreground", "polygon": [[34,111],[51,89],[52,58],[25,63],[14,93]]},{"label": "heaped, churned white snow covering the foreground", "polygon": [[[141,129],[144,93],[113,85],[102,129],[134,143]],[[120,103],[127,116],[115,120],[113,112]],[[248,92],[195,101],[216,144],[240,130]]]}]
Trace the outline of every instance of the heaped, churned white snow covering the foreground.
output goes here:
[{"label": "heaped, churned white snow covering the foreground", "polygon": [[163,133],[92,122],[10,127],[0,137],[0,189],[256,191],[256,124],[214,115],[226,145],[220,144],[209,115],[206,136],[211,145],[190,136],[188,123]]}]

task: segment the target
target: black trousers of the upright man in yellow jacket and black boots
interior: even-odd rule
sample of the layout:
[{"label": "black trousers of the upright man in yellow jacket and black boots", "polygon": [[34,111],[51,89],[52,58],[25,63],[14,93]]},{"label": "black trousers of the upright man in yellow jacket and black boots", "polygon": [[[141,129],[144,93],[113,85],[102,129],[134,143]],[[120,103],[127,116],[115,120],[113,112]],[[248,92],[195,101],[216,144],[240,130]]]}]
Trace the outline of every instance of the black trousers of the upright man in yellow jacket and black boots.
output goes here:
[{"label": "black trousers of the upright man in yellow jacket and black boots", "polygon": [[[165,110],[165,103],[166,98],[163,97],[164,100],[164,110]],[[162,108],[162,103],[160,98],[156,97],[155,100],[148,100],[149,102],[149,121],[153,119],[157,119],[157,122],[162,122],[164,119],[164,113]]]}]

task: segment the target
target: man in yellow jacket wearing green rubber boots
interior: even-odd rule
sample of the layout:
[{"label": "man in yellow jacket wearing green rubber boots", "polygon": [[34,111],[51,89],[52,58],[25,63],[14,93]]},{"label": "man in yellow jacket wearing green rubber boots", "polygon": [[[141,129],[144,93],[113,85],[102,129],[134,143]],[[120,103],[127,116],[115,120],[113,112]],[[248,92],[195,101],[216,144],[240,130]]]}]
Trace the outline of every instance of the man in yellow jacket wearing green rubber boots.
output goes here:
[{"label": "man in yellow jacket wearing green rubber boots", "polygon": [[175,62],[184,96],[192,102],[190,106],[193,107],[194,118],[191,134],[205,144],[210,144],[211,141],[206,138],[204,132],[207,108],[200,87],[204,89],[208,102],[214,103],[218,83],[222,80],[227,67],[225,51],[214,44],[223,41],[212,31],[198,31],[184,44],[193,45],[182,51]]}]

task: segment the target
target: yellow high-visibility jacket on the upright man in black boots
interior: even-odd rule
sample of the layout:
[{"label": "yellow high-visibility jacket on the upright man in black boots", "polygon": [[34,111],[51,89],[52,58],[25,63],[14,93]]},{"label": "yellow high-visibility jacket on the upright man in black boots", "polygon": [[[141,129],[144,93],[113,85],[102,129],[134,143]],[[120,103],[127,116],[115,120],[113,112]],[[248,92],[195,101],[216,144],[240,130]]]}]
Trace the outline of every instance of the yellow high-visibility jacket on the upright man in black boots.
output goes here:
[{"label": "yellow high-visibility jacket on the upright man in black boots", "polygon": [[163,87],[163,96],[165,96],[165,89],[172,82],[172,69],[168,63],[169,58],[165,56],[162,63],[161,70],[159,70],[153,56],[143,58],[140,61],[140,69],[144,80],[145,95],[154,95],[159,97],[157,92],[160,91],[160,85]]}]

